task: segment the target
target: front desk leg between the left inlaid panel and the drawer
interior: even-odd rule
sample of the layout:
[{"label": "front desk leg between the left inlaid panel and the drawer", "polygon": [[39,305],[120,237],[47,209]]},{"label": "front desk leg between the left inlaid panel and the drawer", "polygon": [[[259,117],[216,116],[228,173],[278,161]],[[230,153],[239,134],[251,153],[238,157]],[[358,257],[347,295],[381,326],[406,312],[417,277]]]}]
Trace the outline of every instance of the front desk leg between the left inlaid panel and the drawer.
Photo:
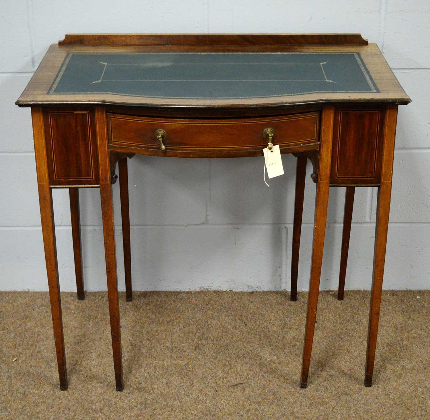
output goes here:
[{"label": "front desk leg between the left inlaid panel and the drawer", "polygon": [[107,149],[107,123],[104,107],[95,109],[100,171],[101,216],[103,220],[104,254],[106,258],[107,296],[111,320],[115,384],[123,390],[123,357],[121,350],[120,305],[118,300],[117,257],[115,252],[114,206],[112,200],[111,163]]}]

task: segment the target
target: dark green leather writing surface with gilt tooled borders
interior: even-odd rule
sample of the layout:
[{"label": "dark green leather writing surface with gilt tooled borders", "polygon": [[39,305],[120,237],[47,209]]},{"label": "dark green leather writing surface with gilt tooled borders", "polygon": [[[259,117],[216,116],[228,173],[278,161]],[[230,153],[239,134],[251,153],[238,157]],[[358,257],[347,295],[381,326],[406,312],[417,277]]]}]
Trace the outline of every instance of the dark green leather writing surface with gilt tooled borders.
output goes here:
[{"label": "dark green leather writing surface with gilt tooled borders", "polygon": [[239,99],[379,93],[359,53],[69,53],[49,94]]}]

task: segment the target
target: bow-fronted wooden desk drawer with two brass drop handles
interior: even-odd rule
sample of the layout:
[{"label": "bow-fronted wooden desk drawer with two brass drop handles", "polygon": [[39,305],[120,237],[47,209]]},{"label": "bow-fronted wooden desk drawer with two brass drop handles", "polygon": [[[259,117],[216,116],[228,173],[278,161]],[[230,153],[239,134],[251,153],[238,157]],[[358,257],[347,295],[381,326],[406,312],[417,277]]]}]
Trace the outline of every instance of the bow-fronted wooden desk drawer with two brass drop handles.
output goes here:
[{"label": "bow-fronted wooden desk drawer with two brass drop handles", "polygon": [[[319,112],[266,118],[172,119],[107,114],[109,144],[136,153],[198,157],[261,155],[272,129],[282,153],[318,148]],[[117,148],[115,147],[115,148]]]}]

